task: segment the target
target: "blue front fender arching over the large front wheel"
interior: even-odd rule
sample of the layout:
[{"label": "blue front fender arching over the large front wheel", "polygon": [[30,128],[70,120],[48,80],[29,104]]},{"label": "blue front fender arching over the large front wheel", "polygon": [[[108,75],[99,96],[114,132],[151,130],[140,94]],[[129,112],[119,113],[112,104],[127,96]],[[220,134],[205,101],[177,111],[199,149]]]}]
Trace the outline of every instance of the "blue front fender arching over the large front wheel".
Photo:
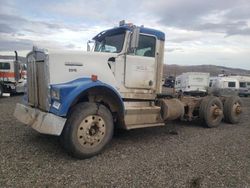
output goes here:
[{"label": "blue front fender arching over the large front wheel", "polygon": [[[52,90],[58,90],[60,93],[60,99],[51,98],[51,107],[50,112],[58,116],[66,116],[71,105],[77,100],[84,92],[88,91],[91,88],[102,87],[108,89],[112,94],[114,94],[118,101],[120,109],[124,114],[124,104],[120,94],[112,86],[105,84],[99,80],[92,81],[90,78],[80,78],[77,80],[70,81],[63,84],[51,85]],[[59,102],[60,107],[57,109],[53,106],[54,102]]]}]

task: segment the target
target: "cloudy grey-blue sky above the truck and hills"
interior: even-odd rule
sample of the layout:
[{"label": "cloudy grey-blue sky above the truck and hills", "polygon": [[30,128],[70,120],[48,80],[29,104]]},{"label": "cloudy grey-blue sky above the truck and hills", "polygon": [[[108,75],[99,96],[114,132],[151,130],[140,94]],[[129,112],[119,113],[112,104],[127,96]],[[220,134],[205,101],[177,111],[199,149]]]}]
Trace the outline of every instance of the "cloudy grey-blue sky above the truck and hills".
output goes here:
[{"label": "cloudy grey-blue sky above the truck and hills", "polygon": [[165,32],[165,63],[250,70],[250,0],[0,0],[0,55],[86,50],[120,20]]}]

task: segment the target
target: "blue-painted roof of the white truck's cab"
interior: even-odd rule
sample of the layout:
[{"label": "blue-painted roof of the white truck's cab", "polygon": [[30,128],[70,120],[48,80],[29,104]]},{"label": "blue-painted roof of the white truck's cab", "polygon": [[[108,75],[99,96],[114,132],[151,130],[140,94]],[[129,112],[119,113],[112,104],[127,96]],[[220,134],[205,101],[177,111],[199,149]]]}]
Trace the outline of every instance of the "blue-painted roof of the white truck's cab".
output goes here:
[{"label": "blue-painted roof of the white truck's cab", "polygon": [[[140,33],[154,35],[154,36],[156,36],[156,38],[158,40],[165,41],[165,33],[161,32],[159,30],[150,29],[150,28],[146,28],[146,27],[139,27],[139,28],[140,28]],[[124,31],[132,31],[132,27],[129,26],[129,25],[123,25],[123,26],[120,26],[120,27],[115,27],[115,28],[112,28],[112,29],[108,29],[108,30],[100,32],[98,35],[96,35],[93,38],[93,40],[101,41],[106,36],[123,33]]]}]

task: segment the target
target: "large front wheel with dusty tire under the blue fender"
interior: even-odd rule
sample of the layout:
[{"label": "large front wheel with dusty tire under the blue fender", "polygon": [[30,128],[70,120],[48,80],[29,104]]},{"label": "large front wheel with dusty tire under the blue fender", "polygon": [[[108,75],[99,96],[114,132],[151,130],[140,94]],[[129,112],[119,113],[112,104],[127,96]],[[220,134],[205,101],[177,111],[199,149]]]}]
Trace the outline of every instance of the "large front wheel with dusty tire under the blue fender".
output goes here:
[{"label": "large front wheel with dusty tire under the blue fender", "polygon": [[110,111],[96,103],[79,103],[64,126],[61,141],[65,150],[79,159],[101,153],[113,137]]}]

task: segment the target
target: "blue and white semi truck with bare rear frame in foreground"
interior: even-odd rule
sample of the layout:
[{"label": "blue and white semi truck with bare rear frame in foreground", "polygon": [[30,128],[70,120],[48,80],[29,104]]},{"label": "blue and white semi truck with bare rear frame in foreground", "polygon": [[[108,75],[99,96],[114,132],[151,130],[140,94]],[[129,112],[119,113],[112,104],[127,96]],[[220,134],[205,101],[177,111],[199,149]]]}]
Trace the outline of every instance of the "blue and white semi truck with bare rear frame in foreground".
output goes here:
[{"label": "blue and white semi truck with bare rear frame in foreground", "polygon": [[[238,123],[236,96],[192,97],[161,92],[165,34],[120,22],[94,38],[92,51],[33,47],[27,55],[26,102],[14,116],[36,131],[60,136],[77,158],[103,151],[114,129],[165,126],[169,120]],[[90,49],[89,47],[87,49]]]}]

